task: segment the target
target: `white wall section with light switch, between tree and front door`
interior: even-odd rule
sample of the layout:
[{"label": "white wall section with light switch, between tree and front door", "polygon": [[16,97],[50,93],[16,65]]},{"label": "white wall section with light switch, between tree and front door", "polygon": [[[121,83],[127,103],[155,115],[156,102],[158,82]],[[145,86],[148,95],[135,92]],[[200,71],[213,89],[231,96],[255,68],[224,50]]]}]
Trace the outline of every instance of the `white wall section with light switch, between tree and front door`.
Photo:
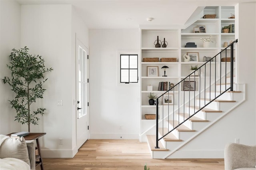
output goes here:
[{"label": "white wall section with light switch, between tree and front door", "polygon": [[[21,46],[27,45],[30,53],[42,55],[46,67],[44,99],[36,105],[46,108],[45,115],[31,132],[46,132],[42,137],[43,157],[72,157],[72,113],[74,89],[74,60],[72,59],[72,6],[71,5],[22,5]],[[63,106],[57,106],[62,100]],[[63,145],[58,144],[63,138]]]}]

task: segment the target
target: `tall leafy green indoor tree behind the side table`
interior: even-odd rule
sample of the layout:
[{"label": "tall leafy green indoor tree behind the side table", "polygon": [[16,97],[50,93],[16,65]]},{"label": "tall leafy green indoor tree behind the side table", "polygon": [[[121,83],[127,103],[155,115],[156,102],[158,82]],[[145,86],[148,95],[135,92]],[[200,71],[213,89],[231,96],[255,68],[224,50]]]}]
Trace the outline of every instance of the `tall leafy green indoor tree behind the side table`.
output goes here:
[{"label": "tall leafy green indoor tree behind the side table", "polygon": [[42,85],[47,81],[44,74],[53,69],[45,67],[42,56],[30,55],[27,47],[12,49],[9,57],[11,62],[7,67],[11,71],[11,77],[4,77],[3,81],[16,93],[14,99],[9,100],[11,108],[16,109],[15,121],[27,124],[30,132],[30,123],[38,125],[38,115],[44,115],[45,111],[42,108],[32,111],[32,104],[36,99],[43,98],[46,89]]}]

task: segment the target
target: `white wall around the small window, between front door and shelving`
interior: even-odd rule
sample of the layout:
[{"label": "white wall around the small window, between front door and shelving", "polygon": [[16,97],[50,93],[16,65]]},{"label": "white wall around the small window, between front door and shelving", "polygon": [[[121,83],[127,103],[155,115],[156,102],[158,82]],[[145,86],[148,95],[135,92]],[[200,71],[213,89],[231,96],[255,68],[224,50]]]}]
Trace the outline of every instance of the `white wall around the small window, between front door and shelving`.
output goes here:
[{"label": "white wall around the small window, between front door and shelving", "polygon": [[[90,29],[90,138],[137,138],[140,86],[118,85],[118,51],[138,51],[139,29]],[[121,129],[120,129],[121,127]]]}]

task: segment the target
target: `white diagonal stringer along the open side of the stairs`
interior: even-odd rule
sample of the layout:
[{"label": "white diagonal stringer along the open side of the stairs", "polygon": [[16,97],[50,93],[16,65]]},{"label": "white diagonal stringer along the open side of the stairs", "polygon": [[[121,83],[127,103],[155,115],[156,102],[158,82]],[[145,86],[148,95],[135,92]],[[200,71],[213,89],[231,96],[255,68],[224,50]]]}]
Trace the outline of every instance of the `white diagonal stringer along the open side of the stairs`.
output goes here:
[{"label": "white diagonal stringer along the open side of the stairs", "polygon": [[[166,159],[166,158],[168,158],[170,155],[172,155],[174,152],[176,152],[179,148],[181,148],[182,146],[184,146],[185,144],[187,144],[188,142],[190,142],[193,138],[195,138],[196,136],[198,136],[200,133],[202,133],[204,130],[206,130],[207,128],[209,128],[209,127],[211,127],[214,123],[216,123],[217,121],[219,121],[222,117],[224,117],[225,115],[227,115],[230,111],[232,111],[233,109],[235,109],[238,105],[240,105],[241,103],[243,103],[244,101],[245,101],[245,84],[236,84],[236,90],[238,91],[242,91],[242,94],[243,95],[241,95],[242,96],[242,99],[240,98],[240,100],[236,97],[236,103],[233,103],[234,104],[234,106],[233,107],[231,107],[230,109],[228,109],[227,111],[225,111],[225,112],[222,112],[221,114],[220,114],[220,116],[216,119],[216,120],[214,120],[214,121],[212,121],[212,122],[210,122],[210,124],[208,124],[206,127],[204,127],[204,128],[202,128],[202,130],[200,130],[200,131],[197,131],[197,132],[194,132],[195,134],[192,136],[192,137],[190,137],[189,139],[187,139],[187,140],[185,140],[185,141],[183,141],[182,142],[182,144],[180,144],[180,145],[178,145],[175,149],[172,149],[172,150],[170,150],[169,152],[168,152],[168,154],[166,154],[166,152],[165,153],[163,153],[162,152],[162,154],[161,154],[161,151],[152,151],[153,152],[153,154],[152,154],[152,158],[160,158],[160,159]],[[233,95],[236,95],[236,94],[233,94]],[[176,142],[177,143],[177,142]],[[167,144],[165,144],[165,146],[166,146]],[[166,148],[166,149],[168,149],[168,148]],[[155,152],[155,153],[154,153]],[[158,153],[156,153],[156,152],[158,152]],[[164,155],[163,155],[164,154]]]}]

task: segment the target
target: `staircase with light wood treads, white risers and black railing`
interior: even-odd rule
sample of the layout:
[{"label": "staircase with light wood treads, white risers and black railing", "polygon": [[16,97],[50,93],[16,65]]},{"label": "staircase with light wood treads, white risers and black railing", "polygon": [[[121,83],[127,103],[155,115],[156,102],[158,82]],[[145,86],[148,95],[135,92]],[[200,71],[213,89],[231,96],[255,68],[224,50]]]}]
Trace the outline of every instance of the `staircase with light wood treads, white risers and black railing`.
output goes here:
[{"label": "staircase with light wood treads, white risers and black railing", "polygon": [[[233,43],[230,45],[231,49],[233,48]],[[222,50],[213,57],[215,58],[215,70],[213,71],[215,76],[211,74],[212,61],[210,61],[210,73],[208,73],[208,76],[206,76],[207,63],[204,64],[205,66],[202,65],[198,68],[199,71],[204,69],[205,75],[200,77],[197,91],[190,91],[190,89],[185,91],[182,89],[182,83],[185,80],[195,80],[193,78],[195,73],[191,73],[175,85],[179,95],[174,94],[175,86],[165,93],[168,95],[172,94],[173,100],[175,98],[176,100],[178,99],[178,107],[174,107],[174,105],[163,106],[163,111],[159,112],[158,105],[156,106],[156,126],[150,128],[146,135],[152,158],[179,157],[179,149],[182,146],[186,145],[245,100],[245,85],[233,83],[233,66],[230,67],[230,71],[227,71],[227,63],[224,64],[225,71],[220,70],[219,76],[216,76],[216,72],[218,72],[216,71],[216,59],[217,57],[222,58],[222,53],[225,50]],[[231,55],[233,54],[231,53]],[[232,63],[230,65],[233,65]],[[223,68],[220,66],[220,69]],[[163,95],[158,99],[161,97],[163,98]],[[166,112],[167,114],[165,114]],[[153,129],[155,129],[155,132],[157,129],[157,133],[152,134]]]}]

